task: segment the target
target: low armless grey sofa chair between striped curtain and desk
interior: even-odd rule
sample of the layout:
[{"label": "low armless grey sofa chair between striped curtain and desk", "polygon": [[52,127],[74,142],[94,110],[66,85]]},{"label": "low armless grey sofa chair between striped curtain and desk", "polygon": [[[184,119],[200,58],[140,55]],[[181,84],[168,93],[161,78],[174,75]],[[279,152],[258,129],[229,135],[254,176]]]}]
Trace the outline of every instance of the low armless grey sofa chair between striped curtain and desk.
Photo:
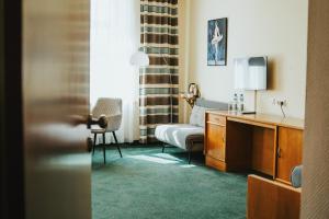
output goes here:
[{"label": "low armless grey sofa chair between striped curtain and desk", "polygon": [[166,143],[189,152],[189,164],[192,151],[203,151],[204,115],[207,110],[227,110],[228,104],[197,99],[192,110],[189,124],[167,124],[156,127],[155,136],[162,141],[162,152]]}]

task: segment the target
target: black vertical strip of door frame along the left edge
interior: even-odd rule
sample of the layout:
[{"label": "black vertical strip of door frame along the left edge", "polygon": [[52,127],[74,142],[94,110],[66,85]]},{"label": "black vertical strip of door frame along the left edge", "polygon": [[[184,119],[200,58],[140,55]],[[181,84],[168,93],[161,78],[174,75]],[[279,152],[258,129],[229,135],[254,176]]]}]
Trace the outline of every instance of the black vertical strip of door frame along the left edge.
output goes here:
[{"label": "black vertical strip of door frame along the left edge", "polygon": [[0,218],[24,218],[22,0],[0,2]]}]

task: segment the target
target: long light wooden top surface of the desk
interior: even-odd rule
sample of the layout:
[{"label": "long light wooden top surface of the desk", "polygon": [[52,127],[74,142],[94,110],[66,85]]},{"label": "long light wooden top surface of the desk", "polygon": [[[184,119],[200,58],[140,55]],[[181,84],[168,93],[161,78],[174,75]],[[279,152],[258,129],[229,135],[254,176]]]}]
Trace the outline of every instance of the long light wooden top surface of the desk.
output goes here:
[{"label": "long light wooden top surface of the desk", "polygon": [[228,111],[206,111],[207,113],[217,114],[226,117],[238,118],[243,120],[263,123],[274,126],[283,126],[288,128],[304,129],[304,119],[283,117],[269,114],[240,114]]}]

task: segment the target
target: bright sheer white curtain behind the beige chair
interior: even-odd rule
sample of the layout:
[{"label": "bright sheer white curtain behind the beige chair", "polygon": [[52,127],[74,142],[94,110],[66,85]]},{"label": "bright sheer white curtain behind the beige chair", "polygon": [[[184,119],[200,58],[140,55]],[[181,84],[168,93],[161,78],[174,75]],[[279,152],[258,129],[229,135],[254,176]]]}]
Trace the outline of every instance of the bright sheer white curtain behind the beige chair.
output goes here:
[{"label": "bright sheer white curtain behind the beige chair", "polygon": [[139,33],[139,1],[91,1],[91,106],[98,97],[123,100],[123,123],[116,132],[121,142],[139,138],[138,69],[129,65],[132,54],[138,49]]}]

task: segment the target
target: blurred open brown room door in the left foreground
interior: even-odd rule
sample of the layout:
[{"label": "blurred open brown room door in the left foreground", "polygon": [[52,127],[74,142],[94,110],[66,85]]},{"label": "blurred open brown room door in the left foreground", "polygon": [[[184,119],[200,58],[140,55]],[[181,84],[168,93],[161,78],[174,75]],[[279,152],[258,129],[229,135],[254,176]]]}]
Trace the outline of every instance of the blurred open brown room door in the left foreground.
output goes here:
[{"label": "blurred open brown room door in the left foreground", "polygon": [[23,1],[25,215],[91,218],[88,0]]}]

